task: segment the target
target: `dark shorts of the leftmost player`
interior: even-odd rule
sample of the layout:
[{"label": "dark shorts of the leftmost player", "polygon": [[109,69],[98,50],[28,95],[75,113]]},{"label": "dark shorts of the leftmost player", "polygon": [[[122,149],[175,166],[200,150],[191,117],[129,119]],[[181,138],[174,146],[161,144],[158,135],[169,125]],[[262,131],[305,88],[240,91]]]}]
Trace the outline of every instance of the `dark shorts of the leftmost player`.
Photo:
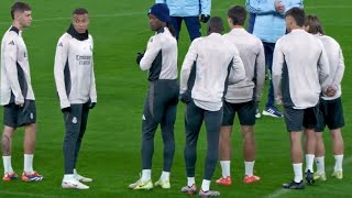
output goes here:
[{"label": "dark shorts of the leftmost player", "polygon": [[25,100],[23,107],[11,102],[3,106],[3,124],[19,128],[36,122],[36,108],[34,100]]}]

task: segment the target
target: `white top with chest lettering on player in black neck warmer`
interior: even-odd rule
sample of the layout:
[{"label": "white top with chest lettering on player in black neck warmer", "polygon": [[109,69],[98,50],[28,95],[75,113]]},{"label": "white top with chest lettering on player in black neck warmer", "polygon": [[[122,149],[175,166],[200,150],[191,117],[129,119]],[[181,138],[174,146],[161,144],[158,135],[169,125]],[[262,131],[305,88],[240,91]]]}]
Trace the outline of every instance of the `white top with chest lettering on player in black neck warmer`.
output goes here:
[{"label": "white top with chest lettering on player in black neck warmer", "polygon": [[94,72],[94,41],[79,41],[69,33],[57,42],[54,76],[61,108],[72,103],[97,102],[96,78]]}]

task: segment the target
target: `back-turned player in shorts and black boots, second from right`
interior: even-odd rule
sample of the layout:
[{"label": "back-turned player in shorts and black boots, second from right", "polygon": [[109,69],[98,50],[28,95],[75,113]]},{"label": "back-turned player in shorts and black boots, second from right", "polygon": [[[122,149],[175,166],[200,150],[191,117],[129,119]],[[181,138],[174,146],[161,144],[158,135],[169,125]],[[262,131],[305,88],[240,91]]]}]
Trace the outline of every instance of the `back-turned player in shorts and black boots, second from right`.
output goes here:
[{"label": "back-turned player in shorts and black boots, second from right", "polygon": [[[306,180],[314,184],[311,147],[315,150],[315,127],[318,120],[320,92],[329,85],[329,62],[322,43],[307,33],[305,11],[293,8],[285,14],[288,34],[278,38],[273,62],[275,99],[284,106],[286,129],[289,132],[290,158],[295,178],[283,188],[302,189],[301,133],[306,139]],[[311,135],[312,134],[312,135]]]}]

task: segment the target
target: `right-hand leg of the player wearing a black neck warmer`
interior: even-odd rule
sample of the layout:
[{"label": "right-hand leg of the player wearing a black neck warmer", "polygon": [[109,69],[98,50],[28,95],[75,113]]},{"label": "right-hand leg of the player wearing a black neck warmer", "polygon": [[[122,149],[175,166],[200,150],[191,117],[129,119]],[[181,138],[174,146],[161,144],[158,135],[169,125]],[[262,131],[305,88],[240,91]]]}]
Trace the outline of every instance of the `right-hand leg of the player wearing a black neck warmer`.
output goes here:
[{"label": "right-hand leg of the player wearing a black neck warmer", "polygon": [[81,121],[80,121],[80,130],[79,130],[79,134],[78,134],[78,139],[77,139],[77,142],[76,142],[76,150],[75,150],[75,160],[74,160],[74,177],[81,182],[81,183],[90,183],[92,182],[91,178],[88,178],[88,177],[84,177],[81,175],[79,175],[77,173],[77,158],[78,158],[78,154],[79,154],[79,151],[80,151],[80,145],[81,145],[81,140],[86,133],[86,129],[87,129],[87,122],[88,122],[88,113],[89,113],[89,103],[90,102],[87,102],[87,103],[84,103],[82,105],[82,110],[81,110]]}]

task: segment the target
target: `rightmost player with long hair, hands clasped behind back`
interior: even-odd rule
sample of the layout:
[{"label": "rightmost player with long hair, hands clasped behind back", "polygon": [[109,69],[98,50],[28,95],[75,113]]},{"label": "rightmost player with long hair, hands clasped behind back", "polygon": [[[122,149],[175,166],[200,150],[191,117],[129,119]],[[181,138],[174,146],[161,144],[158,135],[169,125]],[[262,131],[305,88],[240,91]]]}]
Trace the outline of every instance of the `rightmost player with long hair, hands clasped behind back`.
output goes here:
[{"label": "rightmost player with long hair, hands clasped behind back", "polygon": [[332,176],[342,179],[342,161],[343,161],[343,138],[341,135],[341,128],[344,127],[344,117],[341,100],[341,81],[344,73],[344,61],[340,44],[332,37],[324,35],[324,31],[317,15],[308,15],[305,22],[307,32],[317,36],[323,44],[330,66],[331,85],[328,88],[328,94],[322,95],[319,101],[318,125],[316,128],[316,153],[315,161],[317,164],[317,172],[315,179],[326,180],[324,170],[324,154],[322,132],[328,125],[332,140],[332,152],[336,160]]}]

